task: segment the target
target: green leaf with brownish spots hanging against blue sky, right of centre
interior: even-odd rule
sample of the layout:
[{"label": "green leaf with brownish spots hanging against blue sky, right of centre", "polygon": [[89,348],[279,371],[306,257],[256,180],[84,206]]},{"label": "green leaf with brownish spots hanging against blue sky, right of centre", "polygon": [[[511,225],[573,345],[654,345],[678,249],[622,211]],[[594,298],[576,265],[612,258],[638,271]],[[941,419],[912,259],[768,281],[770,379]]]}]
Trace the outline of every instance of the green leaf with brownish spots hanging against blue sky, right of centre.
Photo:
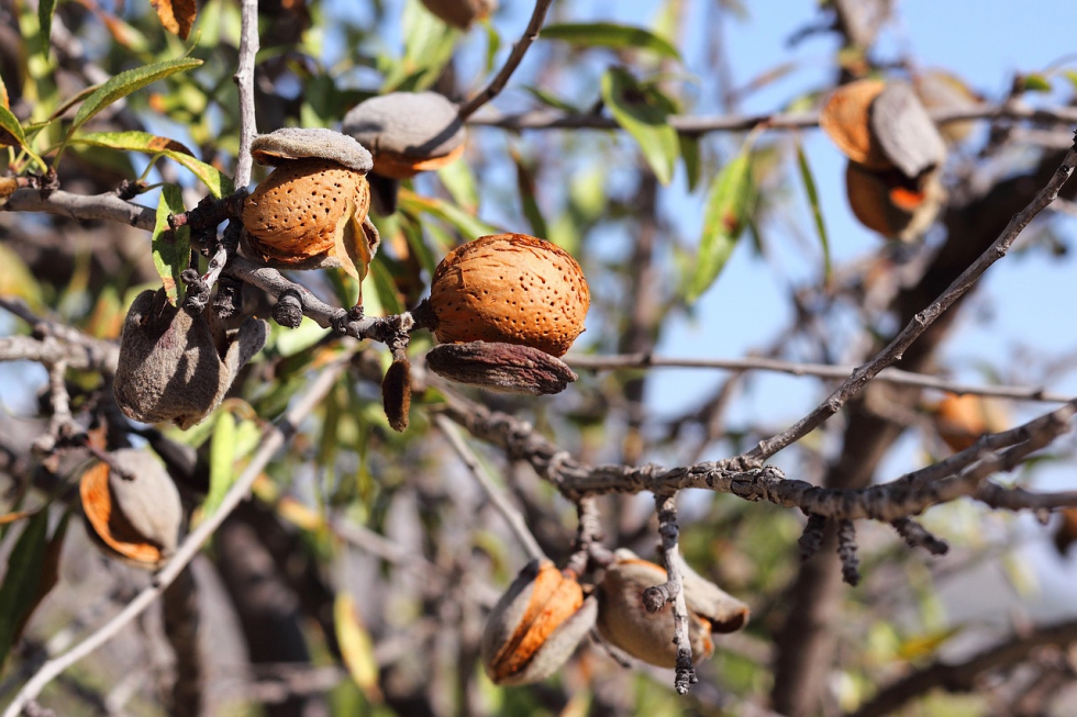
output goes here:
[{"label": "green leaf with brownish spots hanging against blue sky, right of centre", "polygon": [[714,283],[744,232],[753,194],[750,145],[751,141],[745,142],[741,153],[711,182],[703,214],[703,236],[688,282],[686,299],[689,303]]}]

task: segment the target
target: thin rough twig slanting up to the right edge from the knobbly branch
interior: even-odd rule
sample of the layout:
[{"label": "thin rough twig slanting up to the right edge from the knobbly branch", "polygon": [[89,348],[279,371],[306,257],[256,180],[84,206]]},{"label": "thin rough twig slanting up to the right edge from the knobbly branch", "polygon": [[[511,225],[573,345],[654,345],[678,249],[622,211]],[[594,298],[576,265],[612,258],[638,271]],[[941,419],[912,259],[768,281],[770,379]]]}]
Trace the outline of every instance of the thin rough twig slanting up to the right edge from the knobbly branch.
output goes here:
[{"label": "thin rough twig slanting up to the right edge from the knobbly branch", "polygon": [[924,331],[931,326],[955,301],[961,299],[965,292],[971,289],[973,284],[990,268],[992,264],[1006,256],[1013,240],[1029,225],[1029,222],[1039,214],[1043,208],[1050,204],[1058,195],[1058,190],[1066,183],[1066,180],[1074,173],[1077,167],[1077,149],[1070,148],[1055,173],[1051,177],[1047,186],[1036,194],[1035,199],[1018,212],[1010,223],[1002,231],[1002,234],[991,246],[984,251],[976,261],[973,262],[950,287],[935,299],[926,309],[918,313],[909,324],[901,329],[901,333],[890,341],[890,344],[879,351],[869,362],[858,368],[846,379],[836,391],[834,391],[823,403],[817,406],[811,413],[790,426],[787,430],[765,440],[743,455],[745,467],[758,467],[770,456],[800,440],[809,433],[818,428],[823,422],[836,414],[845,403],[867,385],[867,382],[875,378],[882,369],[895,361],[901,359],[904,350],[912,345]]}]

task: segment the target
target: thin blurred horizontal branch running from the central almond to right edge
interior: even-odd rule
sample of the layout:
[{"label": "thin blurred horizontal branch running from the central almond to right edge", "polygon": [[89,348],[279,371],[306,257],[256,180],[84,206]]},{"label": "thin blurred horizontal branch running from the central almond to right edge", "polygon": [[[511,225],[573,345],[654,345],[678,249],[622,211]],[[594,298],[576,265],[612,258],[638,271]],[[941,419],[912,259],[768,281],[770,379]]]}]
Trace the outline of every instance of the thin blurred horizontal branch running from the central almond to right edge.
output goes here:
[{"label": "thin blurred horizontal branch running from the central almond to right edge", "polygon": [[[726,371],[774,371],[791,373],[792,376],[815,376],[823,379],[847,379],[857,369],[855,366],[830,366],[826,363],[798,363],[764,357],[744,359],[692,359],[652,356],[649,354],[622,354],[619,356],[575,356],[569,355],[564,361],[574,369],[590,369],[595,371],[610,369],[645,369],[645,368],[685,368],[685,369],[722,369]],[[921,389],[935,389],[964,395],[993,396],[1000,399],[1021,399],[1025,401],[1043,401],[1047,403],[1065,403],[1073,399],[1070,395],[1050,393],[1041,386],[1019,385],[973,385],[958,383],[937,376],[913,373],[901,369],[887,368],[876,374],[876,381],[911,385]]]}]

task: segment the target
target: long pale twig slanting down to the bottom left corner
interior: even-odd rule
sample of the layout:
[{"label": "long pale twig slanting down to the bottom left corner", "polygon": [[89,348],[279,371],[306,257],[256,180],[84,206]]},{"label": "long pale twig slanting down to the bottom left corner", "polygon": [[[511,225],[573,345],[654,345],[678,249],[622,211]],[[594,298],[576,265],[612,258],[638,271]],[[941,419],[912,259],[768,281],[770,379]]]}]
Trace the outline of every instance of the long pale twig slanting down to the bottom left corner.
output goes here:
[{"label": "long pale twig slanting down to the bottom left corner", "polygon": [[251,485],[262,474],[263,470],[265,470],[269,460],[296,434],[299,423],[314,410],[336,383],[337,378],[349,359],[351,352],[342,356],[323,369],[318,374],[318,378],[311,382],[307,392],[285,415],[284,419],[279,424],[269,426],[266,429],[262,435],[258,449],[251,458],[251,462],[236,479],[235,483],[233,483],[232,488],[229,489],[229,492],[221,501],[220,507],[187,536],[176,551],[176,554],[156,574],[153,584],[140,592],[120,613],[91,632],[85,640],[67,652],[43,664],[34,676],[19,691],[14,701],[8,705],[3,717],[18,717],[23,707],[27,703],[36,699],[41,691],[57,675],[115,637],[121,629],[141,615],[143,610],[149,607],[164,593],[165,589],[176,580],[184,568],[198,554],[202,545],[213,535],[227,515],[246,497],[251,491]]}]

